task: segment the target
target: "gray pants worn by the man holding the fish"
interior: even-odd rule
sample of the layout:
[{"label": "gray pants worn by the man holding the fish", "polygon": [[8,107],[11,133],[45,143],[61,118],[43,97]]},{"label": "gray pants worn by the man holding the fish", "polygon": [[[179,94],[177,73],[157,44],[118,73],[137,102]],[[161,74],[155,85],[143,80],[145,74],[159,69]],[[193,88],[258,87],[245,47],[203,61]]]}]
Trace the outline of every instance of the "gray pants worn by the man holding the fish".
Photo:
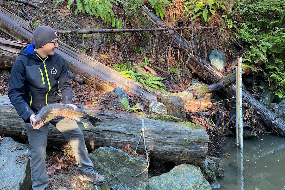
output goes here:
[{"label": "gray pants worn by the man holding the fish", "polygon": [[[72,146],[78,169],[84,175],[94,172],[93,163],[89,159],[89,154],[83,139],[83,133],[76,121],[64,118],[50,122],[69,140]],[[31,179],[33,190],[43,190],[48,185],[48,176],[45,166],[45,155],[47,148],[47,131],[49,123],[39,129],[33,129],[31,124],[26,124],[29,145],[31,150]]]}]

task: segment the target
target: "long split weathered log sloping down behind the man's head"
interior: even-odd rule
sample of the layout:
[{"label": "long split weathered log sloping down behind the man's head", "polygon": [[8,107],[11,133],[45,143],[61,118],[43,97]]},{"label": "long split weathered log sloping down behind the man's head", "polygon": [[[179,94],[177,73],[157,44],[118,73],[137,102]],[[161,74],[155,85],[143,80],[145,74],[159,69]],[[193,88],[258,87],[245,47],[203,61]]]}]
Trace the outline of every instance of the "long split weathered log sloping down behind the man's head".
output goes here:
[{"label": "long split weathered log sloping down behind the man's head", "polygon": [[[7,9],[0,7],[0,31],[17,40],[31,40],[33,38],[32,32],[35,28],[36,26],[29,24]],[[83,53],[77,52],[74,48],[62,42],[59,42],[56,53],[65,58],[67,67],[71,72],[79,75],[87,82],[95,82],[103,91],[114,89],[109,85],[109,81],[112,81],[119,88],[127,86],[129,91],[146,101],[156,99],[156,94],[144,91],[140,83],[124,78],[124,76],[115,70]]]}]

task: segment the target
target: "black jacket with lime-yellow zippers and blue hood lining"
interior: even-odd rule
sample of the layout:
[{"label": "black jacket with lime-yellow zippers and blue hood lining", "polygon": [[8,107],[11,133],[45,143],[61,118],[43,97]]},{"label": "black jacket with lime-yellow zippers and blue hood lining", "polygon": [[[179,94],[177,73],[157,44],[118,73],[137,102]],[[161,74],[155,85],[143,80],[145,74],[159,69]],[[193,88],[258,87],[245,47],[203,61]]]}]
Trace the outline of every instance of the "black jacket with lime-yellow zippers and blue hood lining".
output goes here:
[{"label": "black jacket with lime-yellow zippers and blue hood lining", "polygon": [[12,67],[8,96],[26,123],[47,104],[60,100],[72,103],[72,87],[64,58],[57,53],[42,58],[34,51],[34,43],[23,47]]}]

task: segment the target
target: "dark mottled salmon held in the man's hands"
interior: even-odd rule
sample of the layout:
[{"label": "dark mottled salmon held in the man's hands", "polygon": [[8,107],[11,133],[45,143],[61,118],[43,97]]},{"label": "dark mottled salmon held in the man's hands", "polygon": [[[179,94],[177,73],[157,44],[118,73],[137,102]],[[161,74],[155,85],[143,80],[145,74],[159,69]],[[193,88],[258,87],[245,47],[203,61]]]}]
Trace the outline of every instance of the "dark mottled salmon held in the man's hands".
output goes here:
[{"label": "dark mottled salmon held in the man's hands", "polygon": [[76,110],[73,110],[71,106],[62,103],[56,103],[42,107],[42,109],[38,111],[35,117],[36,121],[33,122],[32,125],[35,126],[41,122],[45,124],[57,117],[68,117],[69,115],[72,115],[73,119],[77,121],[82,121],[83,118],[87,119],[94,127],[96,127],[97,122],[102,121],[101,119],[93,115],[89,115],[85,111],[78,108]]}]

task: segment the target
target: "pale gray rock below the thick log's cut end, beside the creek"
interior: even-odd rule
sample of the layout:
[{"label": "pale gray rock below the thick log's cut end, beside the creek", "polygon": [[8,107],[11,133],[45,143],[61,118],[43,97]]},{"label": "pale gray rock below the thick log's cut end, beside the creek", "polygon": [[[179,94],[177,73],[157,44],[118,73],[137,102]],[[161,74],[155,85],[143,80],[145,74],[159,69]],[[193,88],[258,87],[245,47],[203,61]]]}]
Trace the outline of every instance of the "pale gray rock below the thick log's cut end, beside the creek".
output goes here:
[{"label": "pale gray rock below the thick log's cut end, beside the creek", "polygon": [[149,179],[149,190],[210,190],[200,167],[192,164],[175,166],[170,172]]}]

